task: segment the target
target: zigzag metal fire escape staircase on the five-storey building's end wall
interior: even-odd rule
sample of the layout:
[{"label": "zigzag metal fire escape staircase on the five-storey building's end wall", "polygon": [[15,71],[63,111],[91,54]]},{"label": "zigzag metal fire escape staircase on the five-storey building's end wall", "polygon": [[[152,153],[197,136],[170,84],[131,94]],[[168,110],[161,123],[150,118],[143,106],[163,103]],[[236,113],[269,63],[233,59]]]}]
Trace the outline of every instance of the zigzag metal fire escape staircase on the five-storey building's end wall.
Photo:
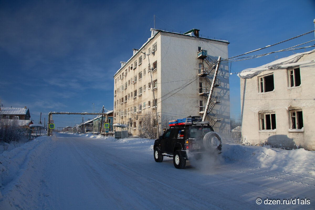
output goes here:
[{"label": "zigzag metal fire escape staircase on the five-storey building's end wall", "polygon": [[[210,125],[214,126],[215,122],[222,121],[221,114],[210,115],[215,104],[221,102],[219,96],[215,97],[213,97],[212,95],[209,96],[210,87],[213,82],[214,87],[220,86],[220,79],[216,78],[216,75],[214,75],[214,73],[212,73],[212,75],[214,76],[210,76],[211,71],[215,69],[216,61],[209,59],[207,50],[198,51],[198,59],[203,60],[203,64],[205,64],[204,66],[206,66],[201,69],[198,69],[198,76],[199,78],[204,78],[204,80],[208,83],[206,88],[199,88],[199,95],[203,95],[207,99],[210,97],[208,109],[205,111],[207,112],[206,115],[209,118]],[[213,78],[215,78],[215,81],[213,80]]]}]

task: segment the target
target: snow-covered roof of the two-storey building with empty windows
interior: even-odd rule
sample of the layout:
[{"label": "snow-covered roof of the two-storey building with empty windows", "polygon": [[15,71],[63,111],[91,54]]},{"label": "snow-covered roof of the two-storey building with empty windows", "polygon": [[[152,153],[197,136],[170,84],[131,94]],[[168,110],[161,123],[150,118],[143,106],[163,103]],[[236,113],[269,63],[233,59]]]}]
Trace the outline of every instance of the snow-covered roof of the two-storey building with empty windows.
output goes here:
[{"label": "snow-covered roof of the two-storey building with empty windows", "polygon": [[271,63],[267,63],[265,65],[262,66],[258,66],[255,68],[248,68],[245,69],[243,71],[241,71],[240,73],[238,73],[238,77],[240,78],[251,78],[254,77],[255,75],[260,74],[263,71],[266,70],[272,70],[272,69],[286,69],[290,66],[297,66],[297,65],[306,65],[309,63],[313,63],[314,64],[314,60],[307,60],[307,61],[301,61],[301,62],[297,62],[301,59],[301,57],[303,57],[305,54],[311,54],[314,53],[314,50],[308,51],[308,52],[304,52],[304,53],[297,53],[294,55],[290,55],[288,57],[285,58],[280,58],[278,60],[272,61]]}]

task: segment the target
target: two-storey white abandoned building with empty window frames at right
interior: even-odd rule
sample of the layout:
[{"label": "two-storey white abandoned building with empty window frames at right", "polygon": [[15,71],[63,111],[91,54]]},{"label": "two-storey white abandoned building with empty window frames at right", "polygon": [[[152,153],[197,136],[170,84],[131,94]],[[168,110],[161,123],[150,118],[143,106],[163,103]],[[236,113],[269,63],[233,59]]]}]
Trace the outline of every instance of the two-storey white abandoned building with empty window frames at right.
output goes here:
[{"label": "two-storey white abandoned building with empty window frames at right", "polygon": [[238,74],[242,138],[315,150],[315,50]]}]

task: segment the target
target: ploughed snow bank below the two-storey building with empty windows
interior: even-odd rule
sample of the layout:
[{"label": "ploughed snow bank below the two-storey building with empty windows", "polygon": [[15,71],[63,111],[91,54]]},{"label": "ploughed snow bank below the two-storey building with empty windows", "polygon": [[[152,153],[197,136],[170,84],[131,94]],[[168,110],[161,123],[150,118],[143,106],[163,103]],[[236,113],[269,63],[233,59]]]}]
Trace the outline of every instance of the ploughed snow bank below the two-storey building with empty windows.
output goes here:
[{"label": "ploughed snow bank below the two-storey building with empty windows", "polygon": [[222,156],[227,163],[238,162],[249,167],[315,177],[315,151],[224,144]]}]

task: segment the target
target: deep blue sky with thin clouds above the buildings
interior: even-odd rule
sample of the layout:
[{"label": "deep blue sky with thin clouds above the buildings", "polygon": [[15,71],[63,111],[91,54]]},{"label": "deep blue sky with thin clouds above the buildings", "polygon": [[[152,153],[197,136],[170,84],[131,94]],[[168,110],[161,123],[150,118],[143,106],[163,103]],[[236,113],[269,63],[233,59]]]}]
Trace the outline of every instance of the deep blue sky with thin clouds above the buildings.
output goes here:
[{"label": "deep blue sky with thin clouds above the buildings", "polygon": [[[118,3],[119,2],[119,3]],[[150,37],[150,28],[230,42],[229,57],[314,30],[314,0],[251,1],[0,1],[0,99],[30,109],[39,122],[49,111],[113,109],[113,75]],[[277,51],[314,39],[314,33],[255,52]],[[303,46],[314,45],[308,43]],[[306,48],[232,62],[231,72],[269,63]],[[240,115],[240,88],[230,76],[231,117]],[[55,127],[93,116],[54,115]]]}]

